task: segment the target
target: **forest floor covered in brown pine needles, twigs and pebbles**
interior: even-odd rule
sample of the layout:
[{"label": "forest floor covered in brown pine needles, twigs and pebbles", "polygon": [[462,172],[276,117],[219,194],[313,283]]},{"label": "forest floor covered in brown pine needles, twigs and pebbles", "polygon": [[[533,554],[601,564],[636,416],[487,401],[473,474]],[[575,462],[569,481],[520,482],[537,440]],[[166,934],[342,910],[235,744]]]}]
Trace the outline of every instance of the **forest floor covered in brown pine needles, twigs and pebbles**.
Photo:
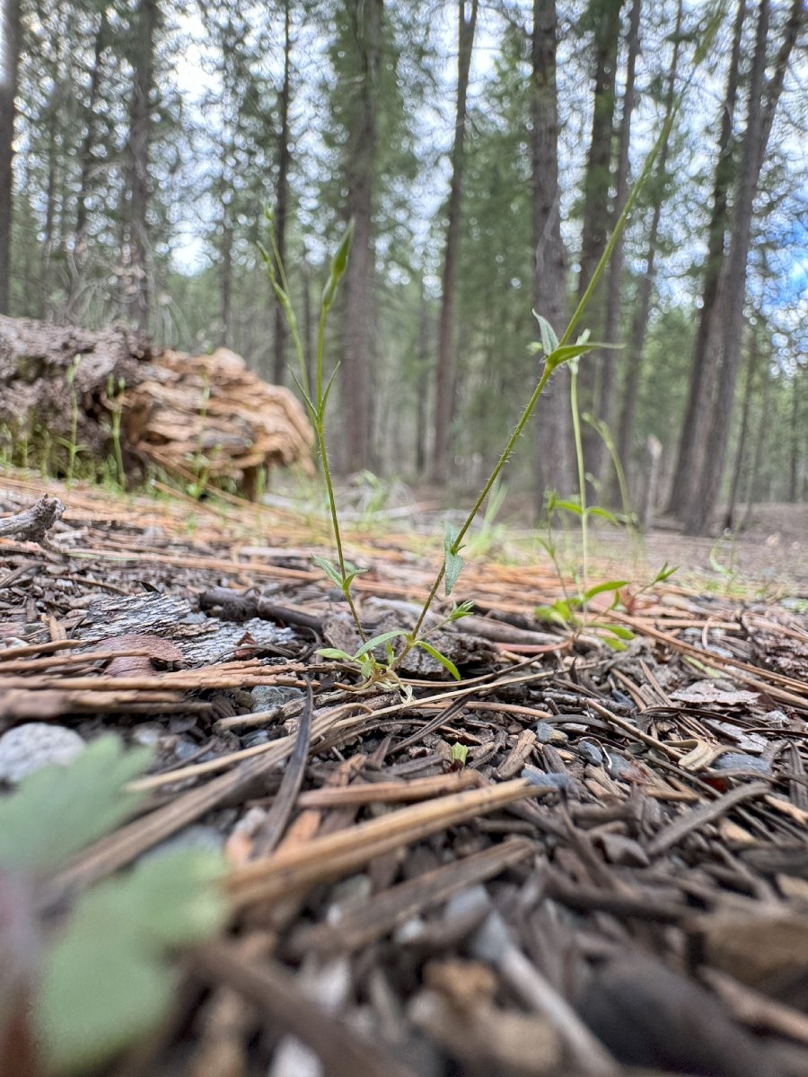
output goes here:
[{"label": "forest floor covered in brown pine needles, twigs and pebbles", "polygon": [[[66,510],[39,544],[14,514],[44,493]],[[593,603],[624,651],[537,620],[575,584],[491,524],[456,589],[474,615],[430,637],[461,680],[419,652],[405,691],[359,693],[316,653],[358,644],[311,563],[326,526],[273,501],[0,477],[0,759],[34,723],[155,753],[42,931],[155,848],[228,865],[228,929],[102,1072],[808,1073],[808,510],[729,546],[598,535],[590,582],[630,581]],[[440,563],[408,515],[348,523],[375,633]]]}]

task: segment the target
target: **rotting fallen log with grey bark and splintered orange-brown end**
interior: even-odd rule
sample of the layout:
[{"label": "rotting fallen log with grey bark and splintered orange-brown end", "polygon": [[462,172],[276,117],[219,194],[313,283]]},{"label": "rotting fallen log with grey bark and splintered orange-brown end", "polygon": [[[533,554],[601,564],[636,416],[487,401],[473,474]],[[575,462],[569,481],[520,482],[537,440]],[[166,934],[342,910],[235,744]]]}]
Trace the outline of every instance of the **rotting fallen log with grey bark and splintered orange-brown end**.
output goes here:
[{"label": "rotting fallen log with grey bark and splintered orange-brown end", "polygon": [[79,471],[100,472],[120,448],[127,476],[151,465],[253,498],[262,468],[311,471],[312,444],[294,395],[232,351],[186,355],[124,325],[0,318],[0,451],[13,463],[64,475],[72,451]]}]

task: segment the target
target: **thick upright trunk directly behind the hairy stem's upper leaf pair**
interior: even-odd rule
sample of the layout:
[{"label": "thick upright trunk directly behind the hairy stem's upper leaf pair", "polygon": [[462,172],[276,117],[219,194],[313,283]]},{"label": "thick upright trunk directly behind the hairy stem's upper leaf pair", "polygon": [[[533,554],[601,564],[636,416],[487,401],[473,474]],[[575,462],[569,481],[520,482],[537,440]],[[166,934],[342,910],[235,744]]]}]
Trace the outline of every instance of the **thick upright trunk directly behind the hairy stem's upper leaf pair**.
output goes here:
[{"label": "thick upright trunk directly behind the hairy stem's upper leaf pair", "polygon": [[[567,266],[561,241],[561,193],[558,187],[558,87],[555,0],[533,0],[530,39],[530,170],[533,234],[533,305],[560,336],[567,322]],[[537,510],[549,487],[568,493],[574,481],[570,373],[553,376],[537,408]]]}]

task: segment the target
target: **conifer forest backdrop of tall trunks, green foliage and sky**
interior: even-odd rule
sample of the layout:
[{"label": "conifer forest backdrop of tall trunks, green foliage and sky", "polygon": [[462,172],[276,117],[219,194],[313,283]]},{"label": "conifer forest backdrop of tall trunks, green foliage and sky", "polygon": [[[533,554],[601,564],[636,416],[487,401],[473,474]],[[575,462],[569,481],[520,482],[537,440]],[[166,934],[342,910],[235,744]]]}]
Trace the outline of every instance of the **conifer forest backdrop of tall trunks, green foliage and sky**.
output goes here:
[{"label": "conifer forest backdrop of tall trunks, green foliage and sky", "polygon": [[[0,313],[225,346],[293,387],[329,258],[334,462],[472,486],[665,120],[582,325],[586,467],[650,438],[691,533],[808,500],[805,0],[2,0]],[[705,53],[703,56],[700,54]],[[575,489],[569,372],[511,465]],[[728,508],[727,508],[728,506]]]}]

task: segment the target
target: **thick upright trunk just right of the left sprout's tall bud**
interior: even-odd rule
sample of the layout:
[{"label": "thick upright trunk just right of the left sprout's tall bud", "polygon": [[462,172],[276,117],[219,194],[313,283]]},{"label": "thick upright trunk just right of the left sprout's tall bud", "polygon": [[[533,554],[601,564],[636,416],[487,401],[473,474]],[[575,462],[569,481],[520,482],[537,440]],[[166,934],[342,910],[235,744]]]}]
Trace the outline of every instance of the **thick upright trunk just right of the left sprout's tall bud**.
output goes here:
[{"label": "thick upright trunk just right of the left sprout's tall bud", "polygon": [[371,446],[372,304],[375,246],[373,187],[377,156],[377,95],[381,60],[382,0],[349,0],[361,75],[359,108],[348,143],[348,215],[354,232],[346,272],[343,335],[343,466],[367,467]]}]

